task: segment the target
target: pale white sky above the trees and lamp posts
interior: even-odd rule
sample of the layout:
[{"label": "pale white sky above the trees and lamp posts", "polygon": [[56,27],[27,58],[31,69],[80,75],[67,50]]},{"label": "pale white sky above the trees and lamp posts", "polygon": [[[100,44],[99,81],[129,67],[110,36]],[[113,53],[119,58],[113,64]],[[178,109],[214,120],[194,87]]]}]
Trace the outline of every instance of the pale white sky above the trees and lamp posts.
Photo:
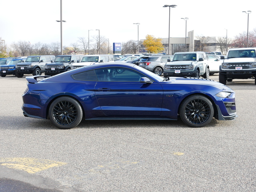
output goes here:
[{"label": "pale white sky above the trees and lamp posts", "polygon": [[[234,38],[246,32],[250,10],[249,31],[256,29],[256,1],[235,0],[62,0],[63,46],[70,46],[79,37],[90,41],[104,36],[113,42],[168,38],[169,8],[170,37],[185,37],[194,30],[195,36]],[[60,0],[1,0],[0,38],[10,46],[13,42],[28,41],[50,44],[60,42]],[[98,29],[98,30],[96,30]]]}]

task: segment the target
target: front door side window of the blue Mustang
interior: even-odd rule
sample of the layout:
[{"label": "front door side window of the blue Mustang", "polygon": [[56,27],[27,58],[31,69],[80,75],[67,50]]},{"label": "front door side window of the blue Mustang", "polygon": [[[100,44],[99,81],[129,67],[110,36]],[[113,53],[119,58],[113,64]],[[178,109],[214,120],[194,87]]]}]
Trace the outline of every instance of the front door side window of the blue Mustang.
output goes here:
[{"label": "front door side window of the blue Mustang", "polygon": [[103,82],[140,82],[145,77],[134,70],[122,67],[109,67],[95,70],[98,81]]}]

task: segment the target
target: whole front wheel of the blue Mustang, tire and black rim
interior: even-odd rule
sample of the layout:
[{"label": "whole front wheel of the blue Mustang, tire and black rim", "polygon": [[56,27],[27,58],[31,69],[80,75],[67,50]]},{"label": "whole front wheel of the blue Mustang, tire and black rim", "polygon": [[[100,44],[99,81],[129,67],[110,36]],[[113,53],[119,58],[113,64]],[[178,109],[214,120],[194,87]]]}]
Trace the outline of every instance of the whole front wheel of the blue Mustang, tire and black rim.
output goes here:
[{"label": "whole front wheel of the blue Mustang, tire and black rim", "polygon": [[190,127],[203,127],[211,122],[214,115],[212,102],[202,95],[186,98],[180,106],[180,117]]}]

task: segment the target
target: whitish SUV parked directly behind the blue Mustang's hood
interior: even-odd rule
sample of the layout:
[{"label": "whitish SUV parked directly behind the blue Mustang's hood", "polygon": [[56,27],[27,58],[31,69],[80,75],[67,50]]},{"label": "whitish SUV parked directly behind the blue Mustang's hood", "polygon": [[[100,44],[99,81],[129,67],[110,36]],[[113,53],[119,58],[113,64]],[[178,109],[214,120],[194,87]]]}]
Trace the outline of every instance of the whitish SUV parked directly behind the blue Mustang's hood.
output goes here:
[{"label": "whitish SUV parked directly behind the blue Mustang's hood", "polygon": [[209,78],[210,71],[205,52],[176,52],[172,62],[164,66],[164,78],[175,77],[200,77]]}]

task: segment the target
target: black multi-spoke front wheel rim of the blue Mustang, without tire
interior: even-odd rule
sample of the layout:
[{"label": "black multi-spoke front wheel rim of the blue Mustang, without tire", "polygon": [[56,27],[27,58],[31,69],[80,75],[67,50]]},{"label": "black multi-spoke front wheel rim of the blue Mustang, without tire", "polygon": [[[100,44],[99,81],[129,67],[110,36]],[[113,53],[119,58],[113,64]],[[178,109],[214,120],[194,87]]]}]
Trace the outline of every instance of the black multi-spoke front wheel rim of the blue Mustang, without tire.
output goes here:
[{"label": "black multi-spoke front wheel rim of the blue Mustang, without tire", "polygon": [[201,99],[190,101],[185,108],[186,119],[192,124],[202,124],[206,122],[211,114],[209,104]]}]

